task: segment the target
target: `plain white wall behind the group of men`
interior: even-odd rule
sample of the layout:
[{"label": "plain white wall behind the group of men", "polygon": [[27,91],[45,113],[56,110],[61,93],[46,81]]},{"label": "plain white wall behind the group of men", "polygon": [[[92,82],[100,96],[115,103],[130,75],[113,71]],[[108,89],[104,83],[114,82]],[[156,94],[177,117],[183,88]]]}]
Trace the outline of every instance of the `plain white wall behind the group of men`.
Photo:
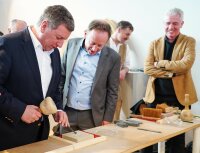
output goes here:
[{"label": "plain white wall behind the group of men", "polygon": [[[95,18],[129,20],[135,27],[129,44],[133,50],[132,63],[136,67],[143,67],[150,41],[164,34],[163,14],[170,8],[181,8],[185,13],[182,33],[197,40],[197,58],[192,71],[200,99],[200,71],[197,71],[200,65],[199,0],[0,0],[0,30],[7,33],[13,18],[33,24],[41,11],[52,4],[66,6],[74,16],[76,28],[71,37],[82,36],[88,23]],[[195,104],[193,110],[200,114],[199,109],[200,104]]]}]

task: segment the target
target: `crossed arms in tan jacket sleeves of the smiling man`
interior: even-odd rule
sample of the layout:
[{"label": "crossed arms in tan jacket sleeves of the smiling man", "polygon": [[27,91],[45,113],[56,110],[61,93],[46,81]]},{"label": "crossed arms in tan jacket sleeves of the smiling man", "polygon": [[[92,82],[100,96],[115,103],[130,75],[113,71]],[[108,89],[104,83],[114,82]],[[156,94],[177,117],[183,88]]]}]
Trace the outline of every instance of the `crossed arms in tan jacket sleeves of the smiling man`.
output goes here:
[{"label": "crossed arms in tan jacket sleeves of the smiling man", "polygon": [[[182,75],[191,69],[195,60],[195,40],[190,38],[184,42],[184,48],[180,47],[177,55],[178,60],[158,60],[154,55],[154,45],[145,61],[145,73],[154,77],[168,77]],[[179,57],[180,56],[180,57]]]}]

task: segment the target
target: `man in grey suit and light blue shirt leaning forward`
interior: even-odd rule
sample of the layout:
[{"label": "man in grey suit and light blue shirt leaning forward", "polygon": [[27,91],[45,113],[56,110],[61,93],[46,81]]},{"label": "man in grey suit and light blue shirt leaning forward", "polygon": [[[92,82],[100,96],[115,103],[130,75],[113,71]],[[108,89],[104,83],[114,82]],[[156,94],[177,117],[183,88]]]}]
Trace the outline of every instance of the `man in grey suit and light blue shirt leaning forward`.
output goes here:
[{"label": "man in grey suit and light blue shirt leaning forward", "polygon": [[[111,28],[94,20],[85,38],[68,41],[62,60],[60,91],[63,106],[74,130],[84,130],[112,121],[119,86],[120,56],[105,46]],[[64,128],[63,132],[68,130]]]}]

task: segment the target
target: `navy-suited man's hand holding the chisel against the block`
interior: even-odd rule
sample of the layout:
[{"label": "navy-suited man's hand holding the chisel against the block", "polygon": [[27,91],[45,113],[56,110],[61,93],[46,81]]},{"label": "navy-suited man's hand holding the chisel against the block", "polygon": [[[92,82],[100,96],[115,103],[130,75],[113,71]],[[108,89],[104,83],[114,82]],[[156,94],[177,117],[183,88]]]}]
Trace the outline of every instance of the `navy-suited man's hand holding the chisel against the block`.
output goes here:
[{"label": "navy-suited man's hand holding the chisel against the block", "polygon": [[70,126],[67,114],[64,111],[59,110],[53,116],[54,116],[54,120],[56,122],[58,122],[59,124],[61,124],[63,127],[69,127]]}]

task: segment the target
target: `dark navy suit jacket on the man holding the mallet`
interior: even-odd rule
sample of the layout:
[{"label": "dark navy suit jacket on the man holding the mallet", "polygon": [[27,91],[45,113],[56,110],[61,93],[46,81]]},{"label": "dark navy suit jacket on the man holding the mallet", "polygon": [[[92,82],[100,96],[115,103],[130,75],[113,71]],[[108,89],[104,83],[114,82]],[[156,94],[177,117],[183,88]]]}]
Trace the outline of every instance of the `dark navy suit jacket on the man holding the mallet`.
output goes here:
[{"label": "dark navy suit jacket on the man holding the mallet", "polygon": [[[59,104],[57,86],[60,80],[60,54],[51,54],[53,75],[48,88]],[[43,100],[36,53],[28,29],[0,38],[0,150],[48,138],[49,121],[26,124],[21,120],[26,105],[39,106]]]}]

